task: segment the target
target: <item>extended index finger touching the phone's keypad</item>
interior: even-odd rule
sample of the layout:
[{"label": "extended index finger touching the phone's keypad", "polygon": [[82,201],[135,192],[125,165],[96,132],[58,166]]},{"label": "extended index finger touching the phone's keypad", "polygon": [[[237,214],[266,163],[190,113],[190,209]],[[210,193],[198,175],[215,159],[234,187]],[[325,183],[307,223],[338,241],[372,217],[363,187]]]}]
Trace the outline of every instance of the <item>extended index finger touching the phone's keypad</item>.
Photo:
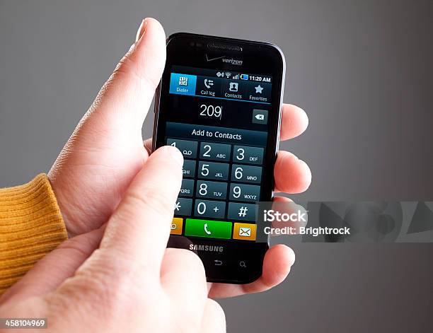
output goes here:
[{"label": "extended index finger touching the phone's keypad", "polygon": [[[100,248],[159,275],[182,181],[183,156],[163,146],[146,160],[108,221]],[[129,259],[129,260],[128,260]]]}]

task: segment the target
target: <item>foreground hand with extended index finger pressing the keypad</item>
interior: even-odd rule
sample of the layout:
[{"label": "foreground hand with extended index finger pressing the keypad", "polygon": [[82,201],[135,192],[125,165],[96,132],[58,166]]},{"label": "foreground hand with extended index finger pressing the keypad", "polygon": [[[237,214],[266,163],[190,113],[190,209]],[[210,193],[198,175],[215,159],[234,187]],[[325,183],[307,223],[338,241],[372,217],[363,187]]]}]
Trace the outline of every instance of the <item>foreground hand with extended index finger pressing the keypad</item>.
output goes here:
[{"label": "foreground hand with extended index finger pressing the keypad", "polygon": [[71,238],[37,262],[0,298],[1,316],[46,317],[49,332],[225,332],[200,258],[166,249],[182,165],[176,148],[156,150],[105,231]]}]

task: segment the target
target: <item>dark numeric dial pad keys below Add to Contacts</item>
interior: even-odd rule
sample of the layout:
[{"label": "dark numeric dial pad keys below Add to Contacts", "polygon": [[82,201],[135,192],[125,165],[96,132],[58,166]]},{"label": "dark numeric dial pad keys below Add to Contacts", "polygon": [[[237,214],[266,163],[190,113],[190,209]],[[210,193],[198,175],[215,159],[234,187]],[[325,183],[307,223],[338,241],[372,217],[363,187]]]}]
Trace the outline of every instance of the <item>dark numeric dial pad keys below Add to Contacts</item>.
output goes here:
[{"label": "dark numeric dial pad keys below Add to Contacts", "polygon": [[183,181],[175,216],[255,223],[265,149],[168,138],[183,153]]}]

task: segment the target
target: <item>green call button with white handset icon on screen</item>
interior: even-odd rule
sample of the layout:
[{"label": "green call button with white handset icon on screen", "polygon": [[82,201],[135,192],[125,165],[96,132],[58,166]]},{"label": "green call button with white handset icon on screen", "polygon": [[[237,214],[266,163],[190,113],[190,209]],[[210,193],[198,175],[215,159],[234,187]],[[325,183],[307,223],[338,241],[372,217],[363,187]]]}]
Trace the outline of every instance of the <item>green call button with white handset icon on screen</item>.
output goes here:
[{"label": "green call button with white handset icon on screen", "polygon": [[185,235],[229,240],[231,238],[231,222],[187,218]]}]

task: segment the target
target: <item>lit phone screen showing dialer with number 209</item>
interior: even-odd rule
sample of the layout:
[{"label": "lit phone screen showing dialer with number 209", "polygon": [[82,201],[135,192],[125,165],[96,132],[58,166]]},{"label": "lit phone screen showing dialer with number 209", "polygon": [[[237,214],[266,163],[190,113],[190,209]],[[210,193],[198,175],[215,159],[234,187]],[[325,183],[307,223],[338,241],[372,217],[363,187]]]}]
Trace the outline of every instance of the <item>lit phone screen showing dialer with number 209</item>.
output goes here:
[{"label": "lit phone screen showing dialer with number 209", "polygon": [[185,158],[172,234],[256,241],[271,91],[271,76],[172,66],[165,141]]}]

